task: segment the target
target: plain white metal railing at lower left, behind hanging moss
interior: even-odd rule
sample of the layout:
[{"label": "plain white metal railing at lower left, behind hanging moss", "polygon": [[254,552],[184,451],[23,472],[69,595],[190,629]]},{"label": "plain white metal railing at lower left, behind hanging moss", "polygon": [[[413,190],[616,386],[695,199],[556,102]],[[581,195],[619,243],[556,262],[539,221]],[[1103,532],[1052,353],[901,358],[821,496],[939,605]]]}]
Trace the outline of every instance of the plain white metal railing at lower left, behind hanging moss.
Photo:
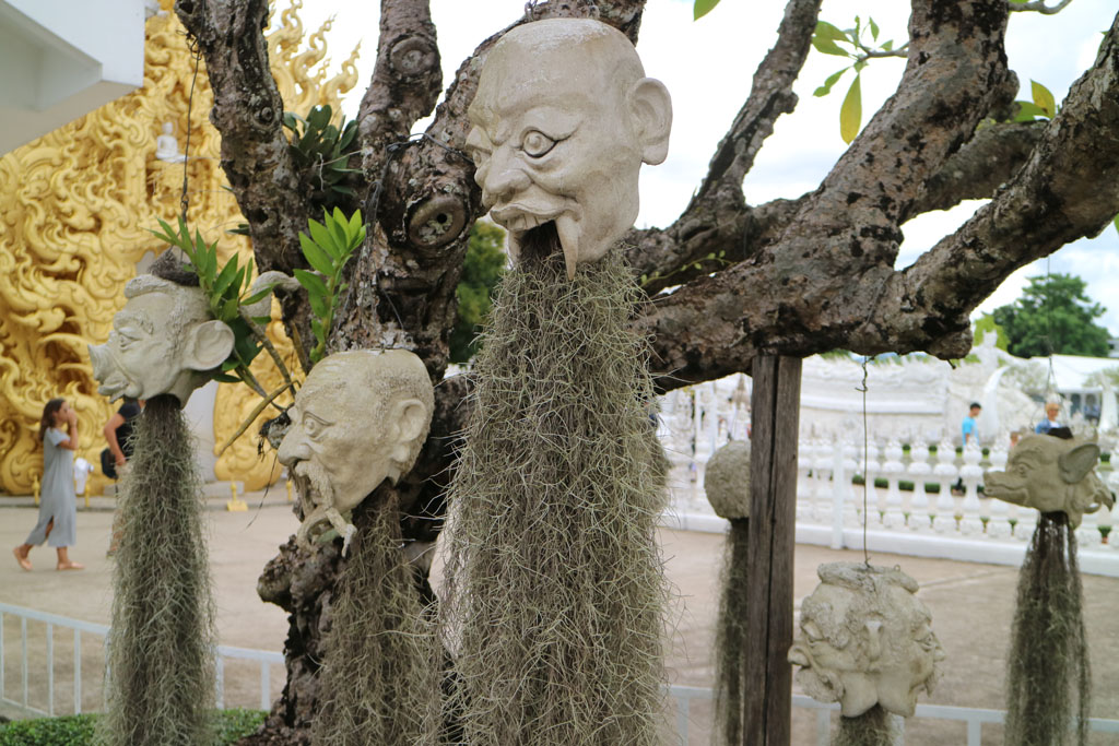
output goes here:
[{"label": "plain white metal railing at lower left, behind hanging moss", "polygon": [[[18,620],[19,624],[19,691],[10,697],[4,689],[7,665],[11,655],[6,644],[6,623],[10,617]],[[46,661],[45,674],[47,679],[47,702],[46,707],[38,707],[30,698],[30,663],[28,658],[28,622],[39,622],[46,625]],[[55,715],[55,629],[67,629],[74,631],[73,661],[74,661],[74,692],[73,712],[82,712],[82,634],[95,635],[101,644],[105,646],[109,635],[109,626],[105,624],[94,624],[83,622],[58,614],[15,606],[12,604],[0,603],[0,703],[15,707],[27,715],[54,716]],[[253,650],[250,648],[235,648],[233,645],[218,645],[216,650],[216,674],[217,674],[217,706],[225,706],[225,663],[228,660],[254,661],[260,669],[260,707],[266,710],[271,707],[272,688],[272,665],[283,665],[283,654],[266,650]],[[102,663],[104,665],[104,663]],[[104,670],[104,669],[102,669]],[[103,678],[98,677],[98,678]]]}]

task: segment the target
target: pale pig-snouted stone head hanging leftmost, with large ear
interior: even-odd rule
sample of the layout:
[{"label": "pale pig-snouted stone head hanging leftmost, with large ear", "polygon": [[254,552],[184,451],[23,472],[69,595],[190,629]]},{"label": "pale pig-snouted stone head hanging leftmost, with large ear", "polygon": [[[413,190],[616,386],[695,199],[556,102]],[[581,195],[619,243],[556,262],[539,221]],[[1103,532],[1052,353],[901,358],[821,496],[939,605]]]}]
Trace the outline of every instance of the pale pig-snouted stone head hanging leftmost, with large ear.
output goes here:
[{"label": "pale pig-snouted stone head hanging leftmost, with large ear", "polygon": [[104,344],[90,346],[97,393],[150,399],[170,394],[186,405],[233,350],[229,327],[216,321],[203,291],[154,275],[124,286],[128,302],[113,317]]}]

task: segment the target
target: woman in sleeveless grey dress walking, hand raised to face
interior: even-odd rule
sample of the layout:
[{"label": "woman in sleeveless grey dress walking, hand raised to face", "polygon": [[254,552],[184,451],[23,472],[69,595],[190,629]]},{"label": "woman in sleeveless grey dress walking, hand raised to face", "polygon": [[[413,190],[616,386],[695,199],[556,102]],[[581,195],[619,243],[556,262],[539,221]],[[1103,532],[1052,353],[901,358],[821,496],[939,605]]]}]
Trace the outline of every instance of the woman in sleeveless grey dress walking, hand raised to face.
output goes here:
[{"label": "woman in sleeveless grey dress walking, hand raised to face", "polygon": [[[63,428],[67,428],[68,433]],[[39,492],[39,522],[27,541],[12,549],[16,561],[31,569],[27,558],[31,547],[48,541],[58,553],[56,569],[79,570],[68,548],[77,537],[77,495],[74,493],[74,452],[77,451],[77,413],[66,399],[50,399],[39,423],[43,442],[43,487]]]}]

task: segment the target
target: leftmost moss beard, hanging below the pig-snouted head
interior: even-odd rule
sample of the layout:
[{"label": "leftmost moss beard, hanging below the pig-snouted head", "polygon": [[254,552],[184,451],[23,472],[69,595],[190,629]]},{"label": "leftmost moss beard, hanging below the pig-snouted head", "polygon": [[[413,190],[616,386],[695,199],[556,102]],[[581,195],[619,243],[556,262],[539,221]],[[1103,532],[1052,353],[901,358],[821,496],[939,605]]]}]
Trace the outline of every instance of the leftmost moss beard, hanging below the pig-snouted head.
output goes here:
[{"label": "leftmost moss beard, hanging below the pig-snouted head", "polygon": [[110,746],[211,743],[215,605],[194,438],[171,395],[148,399],[121,483],[113,569]]}]

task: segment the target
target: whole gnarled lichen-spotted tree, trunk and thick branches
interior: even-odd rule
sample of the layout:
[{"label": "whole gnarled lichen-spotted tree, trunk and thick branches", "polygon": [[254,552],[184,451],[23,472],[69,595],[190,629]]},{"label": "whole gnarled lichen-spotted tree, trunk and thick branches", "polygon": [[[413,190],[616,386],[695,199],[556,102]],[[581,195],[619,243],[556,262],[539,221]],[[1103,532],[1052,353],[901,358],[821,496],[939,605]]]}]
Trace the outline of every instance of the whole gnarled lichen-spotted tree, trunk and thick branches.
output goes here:
[{"label": "whole gnarled lichen-spotted tree, trunk and thick branches", "polygon": [[[633,230],[628,261],[655,295],[634,320],[653,344],[664,389],[749,372],[755,355],[807,356],[924,350],[963,357],[968,314],[1012,272],[1119,213],[1119,18],[1092,67],[1051,122],[1006,120],[1017,91],[1006,67],[1006,0],[912,0],[909,62],[897,89],[820,186],[794,199],[749,205],[742,180],[792,93],[820,0],[788,0],[778,40],[707,176],[666,228]],[[1036,3],[1027,3],[1035,6]],[[462,148],[477,72],[500,30],[442,85],[427,0],[382,0],[376,68],[359,113],[351,186],[370,223],[348,268],[352,291],[329,349],[404,347],[442,381],[454,289],[468,229],[480,216],[473,167]],[[1028,9],[1009,6],[1010,9]],[[299,189],[282,102],[269,73],[265,0],[178,0],[198,40],[215,96],[223,168],[264,270],[305,266],[299,230],[314,214]],[[533,2],[521,19],[596,16],[637,40],[645,0]],[[413,124],[435,108],[425,136]],[[304,112],[298,112],[303,114]],[[904,270],[893,264],[902,225],[963,199],[991,201]],[[721,255],[722,253],[722,255]],[[706,257],[721,255],[714,263]],[[284,322],[309,365],[304,294],[280,292]],[[452,463],[450,434],[464,421],[461,380],[436,388],[433,434],[387,504],[401,506],[405,539],[432,540]],[[385,488],[387,489],[387,488]],[[368,509],[368,508],[367,508]],[[317,709],[317,663],[340,560],[284,547],[261,578],[262,597],[291,614],[289,678],[258,743],[298,743]]]}]

